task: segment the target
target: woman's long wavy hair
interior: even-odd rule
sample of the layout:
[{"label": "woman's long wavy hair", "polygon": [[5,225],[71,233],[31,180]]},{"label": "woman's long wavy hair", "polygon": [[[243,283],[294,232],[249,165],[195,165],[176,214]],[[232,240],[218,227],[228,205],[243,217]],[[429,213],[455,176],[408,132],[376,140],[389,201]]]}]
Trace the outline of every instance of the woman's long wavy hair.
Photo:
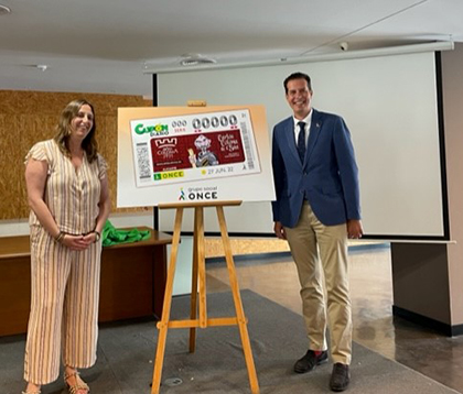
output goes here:
[{"label": "woman's long wavy hair", "polygon": [[56,141],[60,150],[66,155],[71,156],[69,151],[69,138],[71,138],[71,121],[77,116],[82,106],[88,106],[91,108],[94,114],[94,124],[90,132],[82,142],[82,147],[87,154],[87,160],[91,163],[98,153],[98,144],[95,139],[96,122],[95,122],[95,109],[94,106],[87,100],[79,99],[71,101],[61,112],[58,124],[56,125],[56,135],[54,140]]}]

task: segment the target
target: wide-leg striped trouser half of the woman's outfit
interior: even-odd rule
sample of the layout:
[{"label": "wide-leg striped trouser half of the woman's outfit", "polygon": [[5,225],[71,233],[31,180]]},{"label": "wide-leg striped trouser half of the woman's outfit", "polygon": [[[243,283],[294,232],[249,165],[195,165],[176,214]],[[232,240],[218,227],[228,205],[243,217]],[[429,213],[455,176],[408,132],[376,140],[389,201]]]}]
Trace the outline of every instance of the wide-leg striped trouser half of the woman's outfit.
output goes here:
[{"label": "wide-leg striped trouser half of the woman's outfit", "polygon": [[47,384],[60,358],[74,368],[96,361],[101,243],[71,251],[37,226],[31,228],[31,314],[24,380]]}]

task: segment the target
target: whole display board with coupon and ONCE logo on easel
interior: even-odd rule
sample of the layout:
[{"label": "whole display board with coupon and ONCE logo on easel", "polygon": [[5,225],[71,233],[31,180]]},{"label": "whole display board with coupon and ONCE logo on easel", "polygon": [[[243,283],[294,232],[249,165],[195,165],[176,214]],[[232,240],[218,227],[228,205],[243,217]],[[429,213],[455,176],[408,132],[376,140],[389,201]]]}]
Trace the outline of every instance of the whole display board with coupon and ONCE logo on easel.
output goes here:
[{"label": "whole display board with coupon and ONCE logo on easel", "polygon": [[118,207],[274,199],[262,106],[119,108]]}]

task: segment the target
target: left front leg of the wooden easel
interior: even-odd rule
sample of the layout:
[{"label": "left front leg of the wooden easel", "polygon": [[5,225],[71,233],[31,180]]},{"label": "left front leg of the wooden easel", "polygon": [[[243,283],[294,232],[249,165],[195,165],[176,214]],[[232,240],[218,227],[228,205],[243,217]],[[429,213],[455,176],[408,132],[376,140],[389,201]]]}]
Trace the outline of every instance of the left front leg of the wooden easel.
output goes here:
[{"label": "left front leg of the wooden easel", "polygon": [[151,386],[151,394],[159,394],[159,386],[161,384],[162,365],[164,363],[165,339],[168,338],[169,317],[171,314],[172,304],[172,288],[175,275],[176,256],[179,253],[180,232],[182,228],[183,208],[177,208],[175,214],[174,233],[172,240],[171,259],[168,269],[168,278],[165,283],[164,305],[162,307],[162,318],[158,322],[159,336],[158,348],[154,360],[153,381]]}]

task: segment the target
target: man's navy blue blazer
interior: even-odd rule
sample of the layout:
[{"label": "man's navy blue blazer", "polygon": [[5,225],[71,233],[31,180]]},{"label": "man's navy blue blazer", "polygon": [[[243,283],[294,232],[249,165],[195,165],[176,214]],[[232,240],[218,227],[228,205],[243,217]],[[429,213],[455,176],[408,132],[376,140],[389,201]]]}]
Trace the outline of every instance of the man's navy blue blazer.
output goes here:
[{"label": "man's navy blue blazer", "polygon": [[360,219],[358,168],[347,125],[336,114],[312,111],[303,163],[295,146],[293,118],[273,128],[273,221],[284,227],[298,223],[304,196],[325,226]]}]

